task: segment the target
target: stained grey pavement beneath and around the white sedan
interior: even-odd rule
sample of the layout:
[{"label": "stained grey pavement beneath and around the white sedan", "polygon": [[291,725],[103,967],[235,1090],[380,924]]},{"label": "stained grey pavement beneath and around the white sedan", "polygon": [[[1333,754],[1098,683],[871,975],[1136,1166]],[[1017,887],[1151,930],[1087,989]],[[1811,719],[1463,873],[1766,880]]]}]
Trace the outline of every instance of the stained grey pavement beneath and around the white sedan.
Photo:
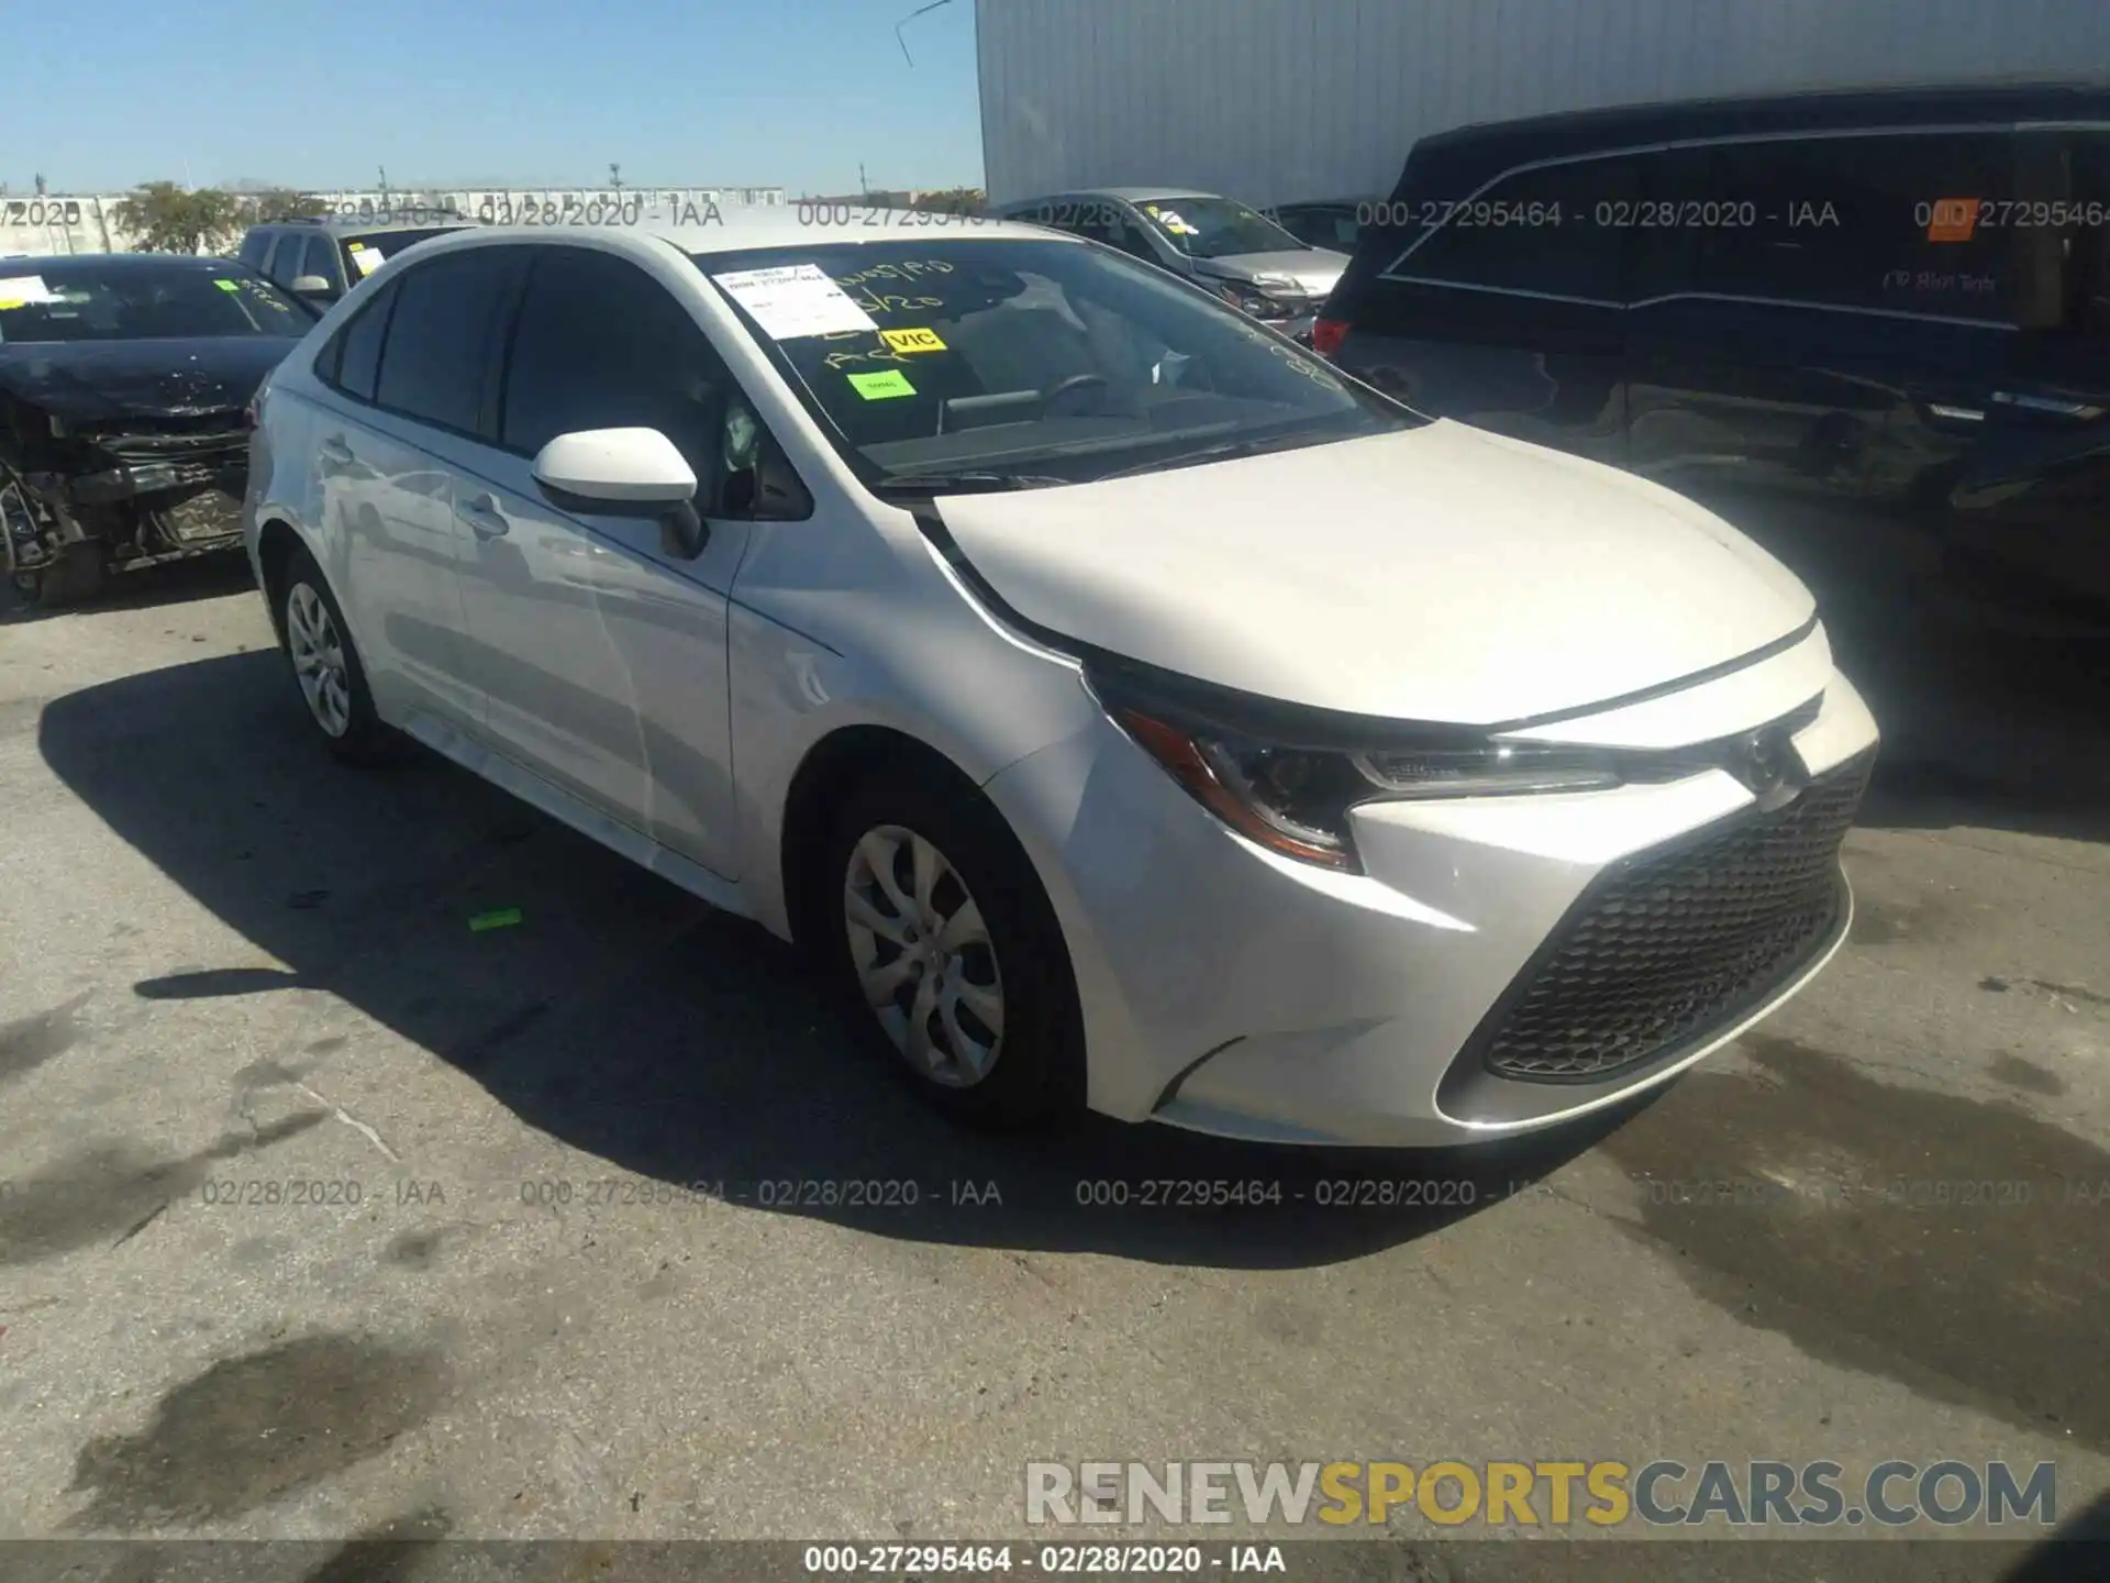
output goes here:
[{"label": "stained grey pavement beneath and around the white sedan", "polygon": [[[2051,1461],[2076,1518],[2110,644],[1861,570],[1848,946],[1652,1104],[1473,1159],[964,1136],[762,931],[452,766],[327,760],[238,559],[6,610],[0,1537],[314,1579],[361,1534],[1038,1543],[1023,1465],[1082,1458]],[[1386,1182],[1450,1186],[1331,1201]],[[1990,1579],[2042,1530],[1374,1532],[1350,1575]]]}]

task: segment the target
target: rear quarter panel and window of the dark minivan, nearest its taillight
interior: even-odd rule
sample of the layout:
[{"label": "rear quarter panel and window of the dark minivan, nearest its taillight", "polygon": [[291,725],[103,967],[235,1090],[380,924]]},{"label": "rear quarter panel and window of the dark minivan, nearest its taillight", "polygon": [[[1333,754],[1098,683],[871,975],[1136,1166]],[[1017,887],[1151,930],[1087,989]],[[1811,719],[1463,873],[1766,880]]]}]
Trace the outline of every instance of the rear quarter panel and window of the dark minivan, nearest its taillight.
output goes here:
[{"label": "rear quarter panel and window of the dark minivan, nearest its taillight", "polygon": [[1342,365],[1422,412],[1625,462],[1614,222],[1635,182],[1629,156],[1595,154],[1376,205],[1407,232],[1355,291]]}]

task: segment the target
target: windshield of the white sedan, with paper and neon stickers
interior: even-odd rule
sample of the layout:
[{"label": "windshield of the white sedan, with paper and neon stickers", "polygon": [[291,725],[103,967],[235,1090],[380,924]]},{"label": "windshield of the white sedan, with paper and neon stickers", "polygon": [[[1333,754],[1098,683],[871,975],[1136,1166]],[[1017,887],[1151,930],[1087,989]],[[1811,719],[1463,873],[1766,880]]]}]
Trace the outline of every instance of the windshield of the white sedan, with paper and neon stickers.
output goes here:
[{"label": "windshield of the white sedan, with paper and neon stickers", "polygon": [[1080,243],[905,239],[696,264],[871,485],[1082,483],[1420,422],[1215,298]]}]

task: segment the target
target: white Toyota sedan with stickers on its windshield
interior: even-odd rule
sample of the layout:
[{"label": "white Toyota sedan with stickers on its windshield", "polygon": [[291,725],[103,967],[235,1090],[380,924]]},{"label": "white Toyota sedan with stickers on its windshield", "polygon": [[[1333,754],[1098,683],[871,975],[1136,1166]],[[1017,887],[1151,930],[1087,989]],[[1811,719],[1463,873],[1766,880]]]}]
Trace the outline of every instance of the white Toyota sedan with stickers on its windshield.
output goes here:
[{"label": "white Toyota sedan with stickers on its windshield", "polygon": [[1787,570],[1097,243],[437,239],[245,511],[333,749],[798,939],[962,1119],[1519,1133],[1846,935],[1876,724]]}]

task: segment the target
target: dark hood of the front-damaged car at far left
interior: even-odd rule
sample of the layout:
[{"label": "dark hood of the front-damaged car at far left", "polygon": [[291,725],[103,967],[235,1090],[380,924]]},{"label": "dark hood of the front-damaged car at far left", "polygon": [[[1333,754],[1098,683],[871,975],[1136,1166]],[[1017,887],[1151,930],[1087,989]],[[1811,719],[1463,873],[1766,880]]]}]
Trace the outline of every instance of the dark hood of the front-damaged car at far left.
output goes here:
[{"label": "dark hood of the front-damaged car at far left", "polygon": [[70,422],[186,418],[249,405],[300,340],[19,342],[0,346],[0,386]]}]

